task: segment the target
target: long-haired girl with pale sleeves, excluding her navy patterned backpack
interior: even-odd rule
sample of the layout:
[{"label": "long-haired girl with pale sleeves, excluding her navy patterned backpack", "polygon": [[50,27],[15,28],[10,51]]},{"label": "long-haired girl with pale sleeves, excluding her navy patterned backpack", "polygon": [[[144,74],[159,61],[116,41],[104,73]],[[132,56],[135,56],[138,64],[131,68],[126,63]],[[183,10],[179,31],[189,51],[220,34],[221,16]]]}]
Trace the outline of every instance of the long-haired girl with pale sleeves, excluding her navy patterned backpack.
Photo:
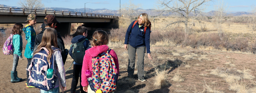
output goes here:
[{"label": "long-haired girl with pale sleeves, excluding her navy patterned backpack", "polygon": [[[35,51],[35,54],[38,53],[41,49],[41,47],[45,47],[47,48],[47,50],[49,51],[49,55],[47,57],[47,59],[51,58],[51,54],[53,52],[53,50],[51,49],[51,47],[58,47],[57,46],[57,31],[55,29],[52,28],[48,28],[45,30],[45,33],[43,33],[42,36],[42,42],[38,45],[37,50]],[[44,91],[41,90],[41,93],[59,93],[59,82],[61,84],[61,88],[66,90],[66,73],[65,73],[65,69],[64,69],[64,64],[62,61],[62,56],[61,56],[61,51],[57,50],[53,52],[53,56],[54,56],[54,62],[57,64],[57,67],[54,68],[54,71],[57,75],[57,78],[59,80],[56,81],[56,84],[54,86],[53,89],[50,89],[49,91]]]}]

